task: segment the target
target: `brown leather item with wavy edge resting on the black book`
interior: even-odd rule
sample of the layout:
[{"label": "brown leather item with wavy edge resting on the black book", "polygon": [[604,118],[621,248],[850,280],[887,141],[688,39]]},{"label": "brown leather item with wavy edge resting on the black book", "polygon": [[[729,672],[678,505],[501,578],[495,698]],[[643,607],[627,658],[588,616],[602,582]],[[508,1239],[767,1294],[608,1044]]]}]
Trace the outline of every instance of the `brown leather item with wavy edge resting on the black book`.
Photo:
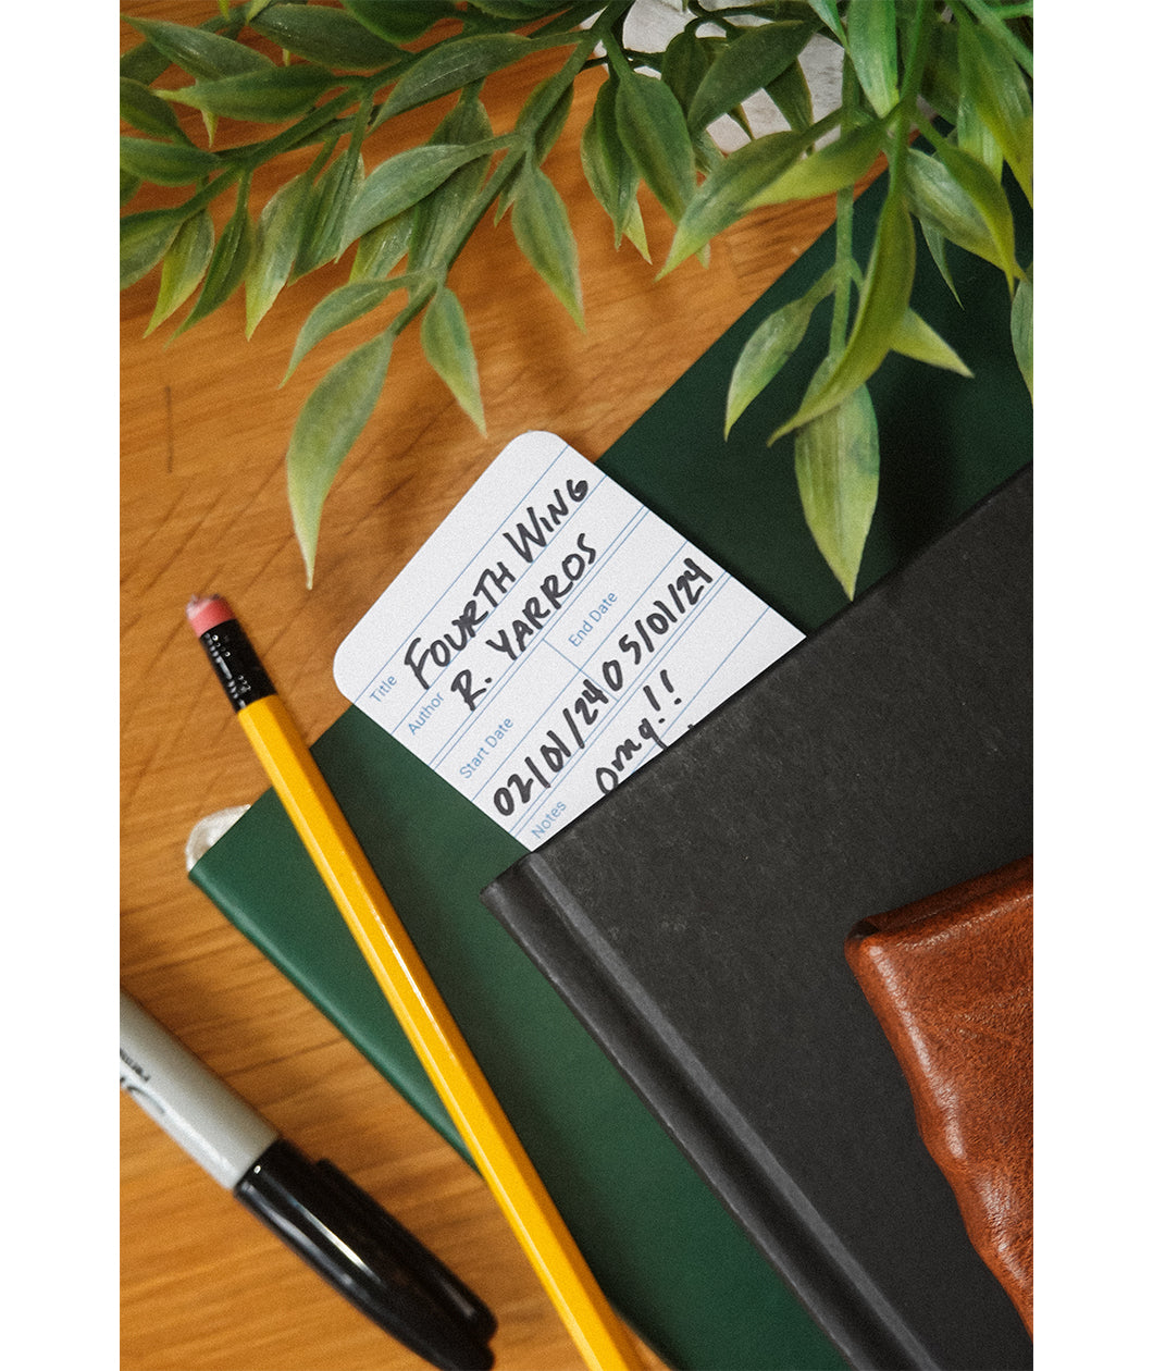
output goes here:
[{"label": "brown leather item with wavy edge resting on the black book", "polygon": [[1032,857],[862,920],[845,953],[969,1239],[1032,1333]]}]

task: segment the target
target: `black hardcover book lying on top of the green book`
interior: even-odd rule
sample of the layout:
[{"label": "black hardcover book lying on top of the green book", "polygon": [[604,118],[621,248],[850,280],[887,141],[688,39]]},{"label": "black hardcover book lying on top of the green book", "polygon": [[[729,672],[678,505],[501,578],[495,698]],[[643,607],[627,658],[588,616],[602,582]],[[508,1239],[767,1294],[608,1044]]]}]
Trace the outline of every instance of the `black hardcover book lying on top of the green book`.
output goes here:
[{"label": "black hardcover book lying on top of the green book", "polygon": [[855,1367],[1031,1364],[843,953],[1032,850],[1031,489],[483,895]]}]

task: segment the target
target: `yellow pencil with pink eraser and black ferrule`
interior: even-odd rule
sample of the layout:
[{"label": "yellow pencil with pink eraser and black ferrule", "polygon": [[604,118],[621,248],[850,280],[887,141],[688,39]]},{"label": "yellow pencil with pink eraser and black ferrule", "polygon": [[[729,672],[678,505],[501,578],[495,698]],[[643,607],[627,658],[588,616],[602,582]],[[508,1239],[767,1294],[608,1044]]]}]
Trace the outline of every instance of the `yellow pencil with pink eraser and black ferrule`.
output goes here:
[{"label": "yellow pencil with pink eraser and black ferrule", "polygon": [[188,620],[308,856],[585,1364],[603,1371],[640,1371],[636,1345],[596,1285],[228,602],[218,595],[197,596],[188,606]]}]

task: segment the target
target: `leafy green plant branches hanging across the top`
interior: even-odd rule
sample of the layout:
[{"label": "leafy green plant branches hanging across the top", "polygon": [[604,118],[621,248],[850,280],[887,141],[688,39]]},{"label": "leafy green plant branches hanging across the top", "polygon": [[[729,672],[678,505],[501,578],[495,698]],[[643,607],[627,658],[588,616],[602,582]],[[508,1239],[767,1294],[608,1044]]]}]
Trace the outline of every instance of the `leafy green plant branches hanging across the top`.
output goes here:
[{"label": "leafy green plant branches hanging across the top", "polygon": [[[121,63],[121,280],[160,265],[149,330],[192,302],[178,330],[241,284],[251,335],[291,281],[350,254],[348,280],[308,315],[289,373],[321,339],[370,311],[381,328],[306,400],[288,444],[293,525],[308,581],[332,481],[377,403],[395,339],[420,341],[465,411],[484,410],[468,322],[448,280],[481,218],[509,214],[520,251],[577,321],[577,245],[544,162],[585,73],[602,82],[581,133],[592,193],[647,259],[643,181],[676,225],[661,273],[765,204],[836,195],[836,260],[768,318],[740,355],[727,426],[768,385],[832,296],[828,354],[792,418],[797,478],[813,536],[850,598],[877,489],[869,377],[890,351],[968,374],[909,307],[917,230],[953,287],[946,244],[995,263],[1012,295],[1013,345],[1032,388],[1032,285],[1015,251],[1004,177],[1032,184],[1032,5],[998,0],[684,0],[685,27],[662,53],[633,52],[636,0],[219,3],[200,27],[129,19],[143,43]],[[820,119],[798,58],[817,36],[845,49],[842,103]],[[271,40],[269,56],[251,37]],[[265,47],[267,47],[265,44]],[[542,49],[557,70],[511,129],[494,133],[484,82]],[[192,80],[154,85],[170,66]],[[724,154],[710,125],[765,90],[788,129]],[[455,95],[422,145],[373,160],[403,111]],[[203,115],[193,140],[173,108]],[[925,110],[930,115],[927,117]],[[218,119],[267,126],[214,148]],[[381,137],[381,130],[385,129]],[[947,130],[947,132],[946,132]],[[919,133],[927,147],[913,145]],[[250,213],[256,169],[302,148],[311,166]],[[853,186],[883,155],[888,189],[868,258],[853,255]],[[180,204],[133,213],[144,182],[189,186]],[[208,206],[232,195],[219,237]],[[956,293],[956,291],[954,291]],[[391,302],[393,313],[384,308]],[[399,306],[399,307],[395,307]],[[385,318],[387,315],[387,318]]]}]

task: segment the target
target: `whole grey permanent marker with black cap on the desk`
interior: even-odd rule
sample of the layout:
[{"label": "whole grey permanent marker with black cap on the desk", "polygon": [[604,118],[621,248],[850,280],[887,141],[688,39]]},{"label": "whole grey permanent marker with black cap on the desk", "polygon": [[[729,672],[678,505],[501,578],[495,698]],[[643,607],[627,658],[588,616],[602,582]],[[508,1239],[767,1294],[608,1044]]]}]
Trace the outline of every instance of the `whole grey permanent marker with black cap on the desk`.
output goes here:
[{"label": "whole grey permanent marker with black cap on the desk", "polygon": [[492,1313],[330,1161],[311,1163],[121,990],[121,1089],[385,1333],[443,1371],[487,1371]]}]

